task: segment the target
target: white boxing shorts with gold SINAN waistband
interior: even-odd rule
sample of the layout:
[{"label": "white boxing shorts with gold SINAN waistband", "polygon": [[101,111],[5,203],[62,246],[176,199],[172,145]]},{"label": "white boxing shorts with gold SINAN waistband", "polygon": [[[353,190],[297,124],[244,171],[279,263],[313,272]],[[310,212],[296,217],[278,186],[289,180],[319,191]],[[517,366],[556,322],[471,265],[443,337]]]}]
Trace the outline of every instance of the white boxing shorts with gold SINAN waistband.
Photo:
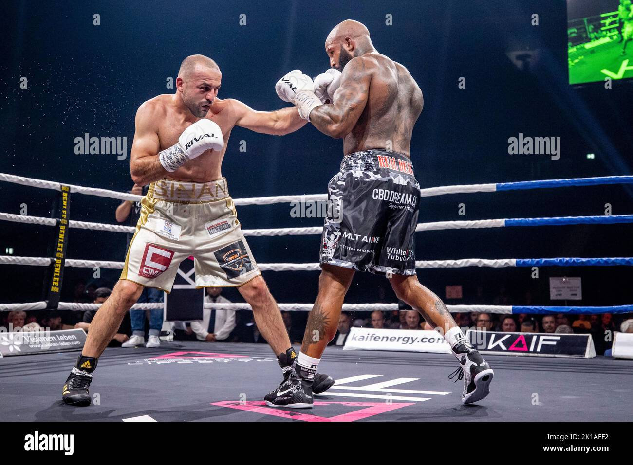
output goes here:
[{"label": "white boxing shorts with gold SINAN waistband", "polygon": [[198,288],[241,286],[261,275],[225,178],[151,183],[121,279],[170,292],[180,262],[190,256]]}]

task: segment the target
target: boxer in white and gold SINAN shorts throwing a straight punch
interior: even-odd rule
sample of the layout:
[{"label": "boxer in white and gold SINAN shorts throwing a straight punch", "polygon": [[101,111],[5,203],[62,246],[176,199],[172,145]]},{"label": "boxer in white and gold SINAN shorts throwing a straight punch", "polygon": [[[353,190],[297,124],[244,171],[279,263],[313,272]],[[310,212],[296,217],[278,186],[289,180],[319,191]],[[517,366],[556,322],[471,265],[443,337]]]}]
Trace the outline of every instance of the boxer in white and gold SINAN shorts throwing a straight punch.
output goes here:
[{"label": "boxer in white and gold SINAN shorts throwing a straight punch", "polygon": [[[149,185],[141,218],[128,247],[121,278],[92,320],[90,332],[63,387],[66,404],[91,404],[89,386],[97,358],[144,287],[172,290],[179,263],[194,257],[196,287],[237,287],[253,307],[263,337],[290,374],[292,349],[277,302],[261,277],[242,234],[227,180],[224,157],[235,126],[284,135],[306,123],[295,108],[254,111],[234,99],[218,99],[222,74],[215,61],[184,59],[177,91],[144,102],[135,118],[130,173]],[[317,390],[334,384],[318,375]],[[316,392],[316,390],[315,390]]]}]

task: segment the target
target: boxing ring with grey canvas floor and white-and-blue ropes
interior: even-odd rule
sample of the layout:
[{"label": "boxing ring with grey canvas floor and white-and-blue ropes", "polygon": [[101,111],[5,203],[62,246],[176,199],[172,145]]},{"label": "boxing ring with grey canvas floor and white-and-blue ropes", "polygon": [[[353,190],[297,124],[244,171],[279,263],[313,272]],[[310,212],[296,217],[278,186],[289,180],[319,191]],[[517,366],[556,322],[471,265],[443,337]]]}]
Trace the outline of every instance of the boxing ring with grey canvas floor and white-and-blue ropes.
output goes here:
[{"label": "boxing ring with grey canvas floor and white-and-blue ropes", "polygon": [[[141,195],[93,189],[0,173],[1,182],[110,199],[139,201]],[[633,176],[455,185],[422,189],[422,197],[475,194],[503,190],[555,189],[633,183]],[[325,201],[327,195],[283,195],[234,199],[235,206],[293,201]],[[132,226],[73,221],[70,218],[0,213],[0,220],[70,230],[134,232]],[[419,223],[417,232],[469,228],[501,228],[632,223],[633,214],[501,218]],[[243,230],[245,236],[320,235],[321,226]],[[66,229],[66,233],[68,230]],[[72,233],[72,232],[71,232]],[[255,252],[256,253],[256,252]],[[11,266],[70,266],[122,269],[123,262],[58,257],[0,256]],[[446,259],[416,261],[418,269],[534,266],[632,266],[633,257],[544,257]],[[260,263],[261,271],[316,271],[318,263]],[[315,281],[316,286],[316,281]],[[274,292],[273,292],[274,295]],[[0,311],[88,310],[99,304],[34,301],[0,304]],[[163,304],[135,304],[136,309]],[[216,309],[249,309],[248,304],[213,304]],[[309,311],[311,302],[282,302],[280,309]],[[449,305],[451,313],[496,314],[628,313],[633,304],[617,306]],[[347,303],[344,311],[396,310],[398,304]],[[418,352],[372,352],[329,347],[320,365],[336,380],[315,397],[309,412],[265,407],[263,396],[279,384],[277,361],[267,345],[241,343],[163,342],[158,349],[106,349],[99,360],[91,394],[99,401],[88,409],[63,406],[60,387],[76,359],[75,352],[0,358],[0,411],[12,421],[607,421],[629,420],[628,384],[633,361],[610,357],[557,359],[487,355],[495,369],[491,395],[480,405],[461,404],[461,384],[448,380],[453,356]],[[175,395],[177,394],[177,395]],[[28,404],[18,402],[28,395]],[[149,405],[149,407],[148,407]],[[579,408],[582,405],[582,408]]]}]

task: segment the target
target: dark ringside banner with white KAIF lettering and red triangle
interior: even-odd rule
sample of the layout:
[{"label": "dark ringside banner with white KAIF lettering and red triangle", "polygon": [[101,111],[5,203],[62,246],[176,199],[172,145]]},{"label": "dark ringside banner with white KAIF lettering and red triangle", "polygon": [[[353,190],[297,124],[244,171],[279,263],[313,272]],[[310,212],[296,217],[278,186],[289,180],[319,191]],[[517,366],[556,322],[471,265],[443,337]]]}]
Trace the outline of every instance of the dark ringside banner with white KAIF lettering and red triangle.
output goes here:
[{"label": "dark ringside banner with white KAIF lettering and red triangle", "polygon": [[596,356],[596,349],[589,334],[468,330],[466,336],[475,349],[486,354],[587,359]]}]

